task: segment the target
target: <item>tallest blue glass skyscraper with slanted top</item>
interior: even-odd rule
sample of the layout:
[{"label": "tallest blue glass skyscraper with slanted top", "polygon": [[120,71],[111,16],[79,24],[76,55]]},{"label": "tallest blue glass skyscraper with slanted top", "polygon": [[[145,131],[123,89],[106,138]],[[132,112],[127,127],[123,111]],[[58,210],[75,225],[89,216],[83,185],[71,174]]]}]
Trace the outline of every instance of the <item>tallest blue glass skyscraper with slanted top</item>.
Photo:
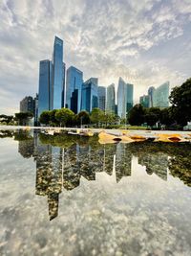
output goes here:
[{"label": "tallest blue glass skyscraper with slanted top", "polygon": [[63,63],[63,40],[55,36],[53,45],[53,88],[51,108],[64,106],[65,65]]}]

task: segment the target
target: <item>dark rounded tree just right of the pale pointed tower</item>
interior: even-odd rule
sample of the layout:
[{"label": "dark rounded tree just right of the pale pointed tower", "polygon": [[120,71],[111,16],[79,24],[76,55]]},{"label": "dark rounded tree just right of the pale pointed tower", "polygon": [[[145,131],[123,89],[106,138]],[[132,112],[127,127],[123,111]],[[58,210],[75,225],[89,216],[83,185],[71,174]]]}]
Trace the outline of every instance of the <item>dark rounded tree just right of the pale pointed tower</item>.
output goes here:
[{"label": "dark rounded tree just right of the pale pointed tower", "polygon": [[144,123],[145,109],[142,105],[137,104],[132,107],[128,113],[128,122],[132,126],[140,126]]}]

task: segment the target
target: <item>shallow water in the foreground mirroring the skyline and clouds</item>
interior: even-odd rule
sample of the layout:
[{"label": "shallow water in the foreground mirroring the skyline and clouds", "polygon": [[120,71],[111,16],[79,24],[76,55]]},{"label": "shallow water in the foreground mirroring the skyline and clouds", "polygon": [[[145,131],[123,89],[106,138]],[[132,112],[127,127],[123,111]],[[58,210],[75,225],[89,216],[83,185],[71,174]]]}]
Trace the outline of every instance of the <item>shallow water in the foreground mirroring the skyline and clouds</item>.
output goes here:
[{"label": "shallow water in the foreground mirroring the skyline and clouds", "polygon": [[191,145],[4,131],[0,255],[191,255]]}]

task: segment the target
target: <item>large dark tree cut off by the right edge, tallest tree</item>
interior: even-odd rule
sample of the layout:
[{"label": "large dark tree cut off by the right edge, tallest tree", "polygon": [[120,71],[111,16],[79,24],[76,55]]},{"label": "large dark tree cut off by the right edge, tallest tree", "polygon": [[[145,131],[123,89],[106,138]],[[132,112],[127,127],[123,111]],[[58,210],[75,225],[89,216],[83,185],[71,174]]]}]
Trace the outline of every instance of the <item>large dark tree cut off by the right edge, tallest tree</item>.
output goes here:
[{"label": "large dark tree cut off by the right edge, tallest tree", "polygon": [[191,78],[173,88],[170,97],[172,115],[180,126],[191,120]]}]

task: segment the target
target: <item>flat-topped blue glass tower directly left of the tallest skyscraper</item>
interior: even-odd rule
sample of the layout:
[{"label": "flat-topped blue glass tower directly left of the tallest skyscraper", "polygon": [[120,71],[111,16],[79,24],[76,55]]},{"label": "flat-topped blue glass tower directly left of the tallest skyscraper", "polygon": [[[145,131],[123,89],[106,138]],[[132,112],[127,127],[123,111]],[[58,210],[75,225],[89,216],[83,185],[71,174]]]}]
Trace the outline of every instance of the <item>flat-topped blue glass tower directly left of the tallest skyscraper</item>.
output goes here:
[{"label": "flat-topped blue glass tower directly left of the tallest skyscraper", "polygon": [[44,110],[51,109],[52,61],[41,60],[39,67],[38,117]]}]

